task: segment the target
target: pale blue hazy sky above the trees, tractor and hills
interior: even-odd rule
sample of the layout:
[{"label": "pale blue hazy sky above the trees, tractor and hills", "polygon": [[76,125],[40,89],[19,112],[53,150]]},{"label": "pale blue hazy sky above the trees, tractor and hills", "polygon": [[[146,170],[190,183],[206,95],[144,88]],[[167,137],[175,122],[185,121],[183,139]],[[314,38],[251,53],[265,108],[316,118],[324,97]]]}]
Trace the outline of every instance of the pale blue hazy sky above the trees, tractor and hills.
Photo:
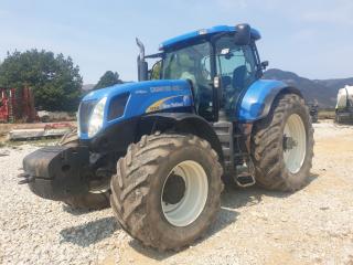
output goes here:
[{"label": "pale blue hazy sky above the trees, tractor and hills", "polygon": [[269,67],[308,78],[353,76],[352,0],[0,0],[0,62],[7,52],[71,56],[84,84],[108,70],[137,80],[135,38],[147,53],[179,34],[249,23]]}]

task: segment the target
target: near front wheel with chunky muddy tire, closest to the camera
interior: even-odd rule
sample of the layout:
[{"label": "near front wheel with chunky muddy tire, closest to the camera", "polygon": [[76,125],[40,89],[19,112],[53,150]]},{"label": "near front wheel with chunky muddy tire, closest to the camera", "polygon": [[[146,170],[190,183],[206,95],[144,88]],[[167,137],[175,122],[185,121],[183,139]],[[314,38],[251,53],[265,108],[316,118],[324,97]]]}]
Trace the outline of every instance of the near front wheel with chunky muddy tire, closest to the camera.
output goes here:
[{"label": "near front wheel with chunky muddy tire, closest to the camera", "polygon": [[143,245],[179,251],[216,219],[222,173],[206,140],[192,135],[142,136],[117,163],[110,204],[121,227]]}]

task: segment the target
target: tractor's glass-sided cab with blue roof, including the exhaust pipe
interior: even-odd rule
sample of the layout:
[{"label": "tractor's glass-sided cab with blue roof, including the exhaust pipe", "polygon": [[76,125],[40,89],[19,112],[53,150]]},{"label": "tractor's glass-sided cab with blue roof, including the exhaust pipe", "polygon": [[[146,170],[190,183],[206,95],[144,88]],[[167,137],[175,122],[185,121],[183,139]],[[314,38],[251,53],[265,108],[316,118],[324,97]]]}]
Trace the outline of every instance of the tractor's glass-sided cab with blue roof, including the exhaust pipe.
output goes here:
[{"label": "tractor's glass-sided cab with blue roof, including the exhaust pipe", "polygon": [[[263,74],[255,41],[260,34],[247,24],[214,26],[173,38],[160,45],[161,53],[140,53],[139,77],[186,80],[195,113],[208,121],[235,120],[238,99]],[[138,42],[143,49],[141,42]],[[145,59],[160,57],[147,72]],[[141,74],[142,73],[142,74]]]}]

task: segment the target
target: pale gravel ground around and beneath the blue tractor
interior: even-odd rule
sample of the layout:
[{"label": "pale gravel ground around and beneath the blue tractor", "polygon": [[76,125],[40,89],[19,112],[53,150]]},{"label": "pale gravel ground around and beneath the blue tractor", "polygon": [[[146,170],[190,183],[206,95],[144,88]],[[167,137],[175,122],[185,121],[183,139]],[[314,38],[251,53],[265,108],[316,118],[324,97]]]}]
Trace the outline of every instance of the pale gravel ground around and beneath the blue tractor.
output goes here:
[{"label": "pale gravel ground around and beneath the blue tractor", "polygon": [[142,247],[109,209],[71,210],[35,197],[17,174],[38,147],[1,148],[0,264],[353,264],[353,127],[314,127],[304,189],[228,189],[207,235],[180,253]]}]

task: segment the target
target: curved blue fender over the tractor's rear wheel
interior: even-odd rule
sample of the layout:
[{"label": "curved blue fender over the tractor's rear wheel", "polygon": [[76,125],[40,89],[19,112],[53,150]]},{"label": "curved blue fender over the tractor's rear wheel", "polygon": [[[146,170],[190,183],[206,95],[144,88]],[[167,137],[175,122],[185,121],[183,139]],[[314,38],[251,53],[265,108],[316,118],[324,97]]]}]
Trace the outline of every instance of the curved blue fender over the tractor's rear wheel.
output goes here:
[{"label": "curved blue fender over the tractor's rear wheel", "polygon": [[258,80],[246,91],[237,108],[240,123],[254,123],[265,118],[280,93],[295,93],[302,97],[300,91],[280,81]]}]

